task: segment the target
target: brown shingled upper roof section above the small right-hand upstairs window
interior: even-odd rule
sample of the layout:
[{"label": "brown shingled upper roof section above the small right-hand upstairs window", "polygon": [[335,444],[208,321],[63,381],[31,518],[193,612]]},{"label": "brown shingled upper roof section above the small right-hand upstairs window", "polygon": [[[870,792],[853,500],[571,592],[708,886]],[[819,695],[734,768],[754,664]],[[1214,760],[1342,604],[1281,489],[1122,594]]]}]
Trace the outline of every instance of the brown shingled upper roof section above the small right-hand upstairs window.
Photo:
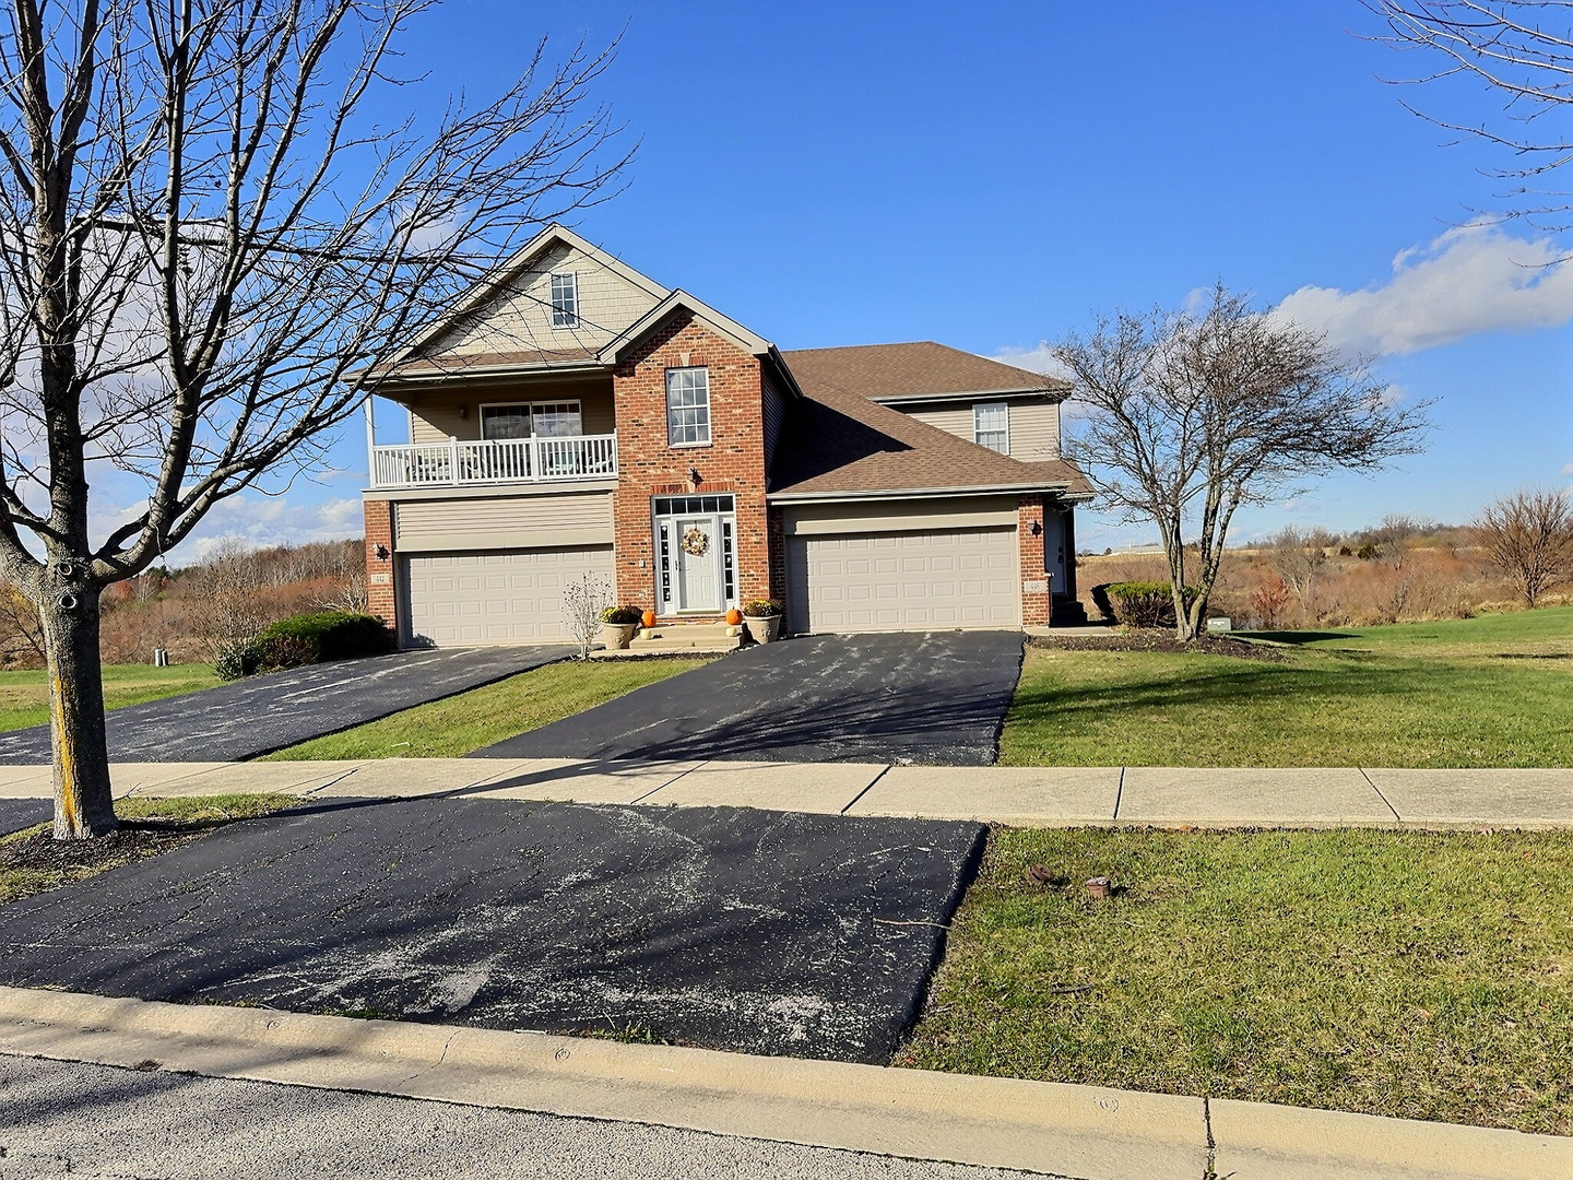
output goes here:
[{"label": "brown shingled upper roof section above the small right-hand upstairs window", "polygon": [[908,345],[805,348],[786,354],[805,389],[854,389],[871,401],[926,401],[961,393],[1048,393],[1063,398],[1068,381],[917,340]]}]

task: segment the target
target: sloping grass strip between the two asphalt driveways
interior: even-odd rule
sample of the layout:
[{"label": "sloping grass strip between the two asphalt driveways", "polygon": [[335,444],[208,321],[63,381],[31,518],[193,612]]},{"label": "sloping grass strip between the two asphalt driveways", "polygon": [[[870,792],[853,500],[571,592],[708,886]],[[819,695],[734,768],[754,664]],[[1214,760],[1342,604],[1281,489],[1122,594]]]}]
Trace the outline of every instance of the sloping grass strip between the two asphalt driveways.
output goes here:
[{"label": "sloping grass strip between the two asphalt driveways", "polygon": [[267,760],[458,758],[705,662],[606,659],[547,664],[497,684],[291,746],[267,755]]}]

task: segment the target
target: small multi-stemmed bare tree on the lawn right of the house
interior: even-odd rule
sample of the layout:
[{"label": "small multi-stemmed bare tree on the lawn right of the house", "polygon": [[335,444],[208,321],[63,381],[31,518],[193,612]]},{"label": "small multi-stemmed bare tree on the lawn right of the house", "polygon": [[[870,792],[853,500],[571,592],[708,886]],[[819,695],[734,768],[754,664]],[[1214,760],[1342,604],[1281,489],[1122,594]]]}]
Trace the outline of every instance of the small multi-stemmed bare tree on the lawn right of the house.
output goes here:
[{"label": "small multi-stemmed bare tree on the lawn right of the house", "polygon": [[1115,510],[1158,525],[1181,640],[1202,629],[1240,505],[1373,469],[1417,450],[1425,430],[1424,406],[1391,404],[1364,363],[1222,285],[1200,313],[1100,318],[1054,352],[1090,411],[1073,458]]}]

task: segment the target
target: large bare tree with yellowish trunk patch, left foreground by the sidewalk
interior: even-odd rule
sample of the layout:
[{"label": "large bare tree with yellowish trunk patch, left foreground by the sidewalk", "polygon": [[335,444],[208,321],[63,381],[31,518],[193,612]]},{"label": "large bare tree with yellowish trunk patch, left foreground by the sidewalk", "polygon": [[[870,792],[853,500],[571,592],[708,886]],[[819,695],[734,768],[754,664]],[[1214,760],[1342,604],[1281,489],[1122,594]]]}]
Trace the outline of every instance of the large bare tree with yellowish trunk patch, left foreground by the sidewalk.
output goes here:
[{"label": "large bare tree with yellowish trunk patch, left foreground by the sidewalk", "polygon": [[[0,3],[0,579],[42,620],[55,835],[90,837],[104,587],[310,469],[401,338],[626,157],[587,107],[607,53],[417,104],[396,47],[434,0]],[[113,472],[140,505],[91,529]]]}]

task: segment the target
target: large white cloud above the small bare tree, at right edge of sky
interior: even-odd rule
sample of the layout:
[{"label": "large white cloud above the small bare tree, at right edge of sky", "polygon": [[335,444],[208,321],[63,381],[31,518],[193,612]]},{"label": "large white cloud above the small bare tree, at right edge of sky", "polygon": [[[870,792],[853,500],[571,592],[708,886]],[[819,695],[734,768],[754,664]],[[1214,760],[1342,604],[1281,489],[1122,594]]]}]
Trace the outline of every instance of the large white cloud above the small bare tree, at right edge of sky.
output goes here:
[{"label": "large white cloud above the small bare tree, at right edge of sky", "polygon": [[1475,332],[1565,324],[1573,319],[1573,264],[1549,238],[1461,225],[1400,252],[1381,285],[1302,286],[1277,305],[1277,315],[1326,332],[1350,352],[1414,352]]}]

